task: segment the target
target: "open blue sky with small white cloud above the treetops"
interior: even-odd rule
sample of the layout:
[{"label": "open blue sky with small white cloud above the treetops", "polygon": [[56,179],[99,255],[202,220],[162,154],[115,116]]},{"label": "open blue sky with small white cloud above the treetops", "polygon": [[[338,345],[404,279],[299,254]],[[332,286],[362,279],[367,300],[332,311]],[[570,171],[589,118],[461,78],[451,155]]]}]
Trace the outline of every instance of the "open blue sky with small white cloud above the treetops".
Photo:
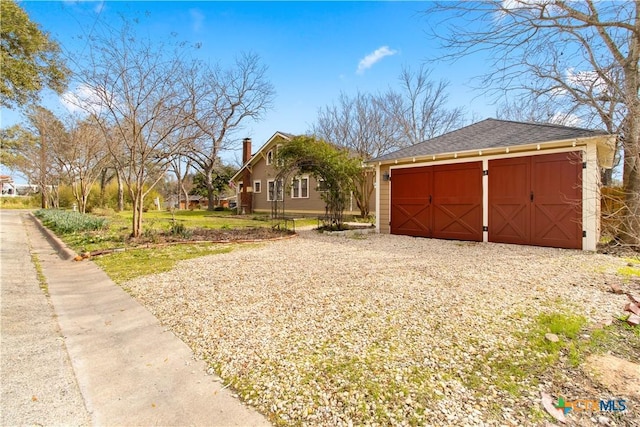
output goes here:
[{"label": "open blue sky with small white cloud above the treetops", "polygon": [[[450,82],[450,106],[464,106],[483,119],[495,106],[473,92],[470,79],[483,71],[478,58],[449,64],[430,62],[437,42],[426,35],[421,12],[428,2],[93,2],[22,1],[34,22],[68,51],[86,46],[78,36],[97,19],[116,22],[119,13],[139,17],[142,28],[157,40],[177,33],[181,40],[202,43],[201,58],[221,65],[235,55],[253,52],[268,66],[276,90],[273,109],[259,123],[246,123],[239,140],[253,138],[254,151],[276,131],[303,133],[318,109],[335,102],[340,92],[375,93],[397,87],[403,66],[421,64],[432,79]],[[86,39],[85,39],[86,40]],[[62,108],[54,97],[45,103]],[[17,112],[2,110],[2,126],[20,121]],[[237,160],[238,150],[227,153]]]}]

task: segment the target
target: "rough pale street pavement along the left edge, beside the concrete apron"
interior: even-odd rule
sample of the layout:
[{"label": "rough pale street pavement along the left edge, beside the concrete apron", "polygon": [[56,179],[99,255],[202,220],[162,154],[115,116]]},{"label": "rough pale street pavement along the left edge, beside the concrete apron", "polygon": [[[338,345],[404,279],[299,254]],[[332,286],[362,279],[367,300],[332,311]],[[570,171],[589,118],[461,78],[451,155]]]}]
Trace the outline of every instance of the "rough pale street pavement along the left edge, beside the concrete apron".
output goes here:
[{"label": "rough pale street pavement along the left edge, beside the concrete apron", "polygon": [[0,210],[0,425],[89,425],[25,215]]}]

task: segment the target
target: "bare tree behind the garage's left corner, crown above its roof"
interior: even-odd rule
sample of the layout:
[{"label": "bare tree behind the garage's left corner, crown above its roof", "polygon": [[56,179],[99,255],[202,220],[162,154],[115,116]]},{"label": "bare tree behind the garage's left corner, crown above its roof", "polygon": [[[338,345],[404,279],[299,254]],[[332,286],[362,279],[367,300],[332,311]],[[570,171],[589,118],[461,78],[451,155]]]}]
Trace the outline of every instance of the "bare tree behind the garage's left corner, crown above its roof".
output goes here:
[{"label": "bare tree behind the garage's left corner, crown above its roof", "polygon": [[[448,84],[434,83],[429,76],[424,67],[415,73],[405,68],[399,92],[391,88],[377,95],[358,92],[352,98],[341,93],[337,104],[319,110],[312,132],[369,160],[461,126],[464,110],[446,106]],[[362,216],[369,215],[372,174],[363,168],[354,190]]]}]

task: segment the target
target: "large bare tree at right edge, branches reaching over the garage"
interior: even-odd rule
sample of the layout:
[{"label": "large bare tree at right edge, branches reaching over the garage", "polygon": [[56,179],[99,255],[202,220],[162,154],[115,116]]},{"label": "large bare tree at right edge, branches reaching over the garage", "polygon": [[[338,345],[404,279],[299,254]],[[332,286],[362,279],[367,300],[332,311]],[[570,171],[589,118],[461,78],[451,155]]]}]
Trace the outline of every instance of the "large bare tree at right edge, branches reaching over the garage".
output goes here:
[{"label": "large bare tree at right edge, branches reaching over the garage", "polygon": [[[640,2],[442,2],[427,13],[450,59],[483,52],[494,95],[528,91],[569,104],[618,131],[625,209],[619,240],[640,245]],[[435,30],[437,28],[437,30]]]}]

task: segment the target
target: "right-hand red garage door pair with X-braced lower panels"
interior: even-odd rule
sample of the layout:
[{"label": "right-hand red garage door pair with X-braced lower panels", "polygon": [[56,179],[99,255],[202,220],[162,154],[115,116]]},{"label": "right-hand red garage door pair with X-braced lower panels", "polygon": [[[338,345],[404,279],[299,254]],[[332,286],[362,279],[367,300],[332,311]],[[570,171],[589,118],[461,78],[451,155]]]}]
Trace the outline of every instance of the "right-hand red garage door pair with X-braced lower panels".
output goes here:
[{"label": "right-hand red garage door pair with X-braced lower panels", "polygon": [[579,151],[489,161],[489,241],[582,248]]}]

